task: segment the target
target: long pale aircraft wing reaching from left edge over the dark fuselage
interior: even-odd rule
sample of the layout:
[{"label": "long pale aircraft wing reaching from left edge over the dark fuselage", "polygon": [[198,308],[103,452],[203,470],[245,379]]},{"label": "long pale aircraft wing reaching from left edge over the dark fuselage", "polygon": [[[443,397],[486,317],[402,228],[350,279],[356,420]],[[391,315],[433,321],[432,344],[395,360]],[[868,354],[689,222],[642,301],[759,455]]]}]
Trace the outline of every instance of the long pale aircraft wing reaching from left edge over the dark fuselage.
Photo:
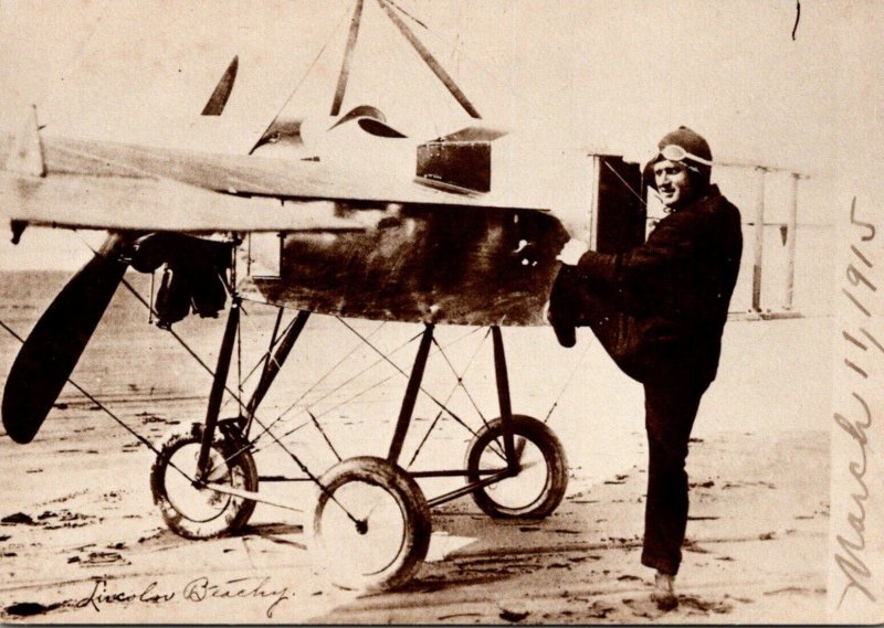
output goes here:
[{"label": "long pale aircraft wing reaching from left edge over the dark fuselage", "polygon": [[[19,145],[15,143],[19,142]],[[2,211],[31,224],[134,231],[337,231],[365,225],[333,203],[537,209],[503,195],[445,191],[383,171],[255,156],[212,155],[33,131],[42,177],[10,168],[21,136],[0,137]],[[281,201],[294,201],[281,203]],[[306,201],[306,202],[305,202]]]}]

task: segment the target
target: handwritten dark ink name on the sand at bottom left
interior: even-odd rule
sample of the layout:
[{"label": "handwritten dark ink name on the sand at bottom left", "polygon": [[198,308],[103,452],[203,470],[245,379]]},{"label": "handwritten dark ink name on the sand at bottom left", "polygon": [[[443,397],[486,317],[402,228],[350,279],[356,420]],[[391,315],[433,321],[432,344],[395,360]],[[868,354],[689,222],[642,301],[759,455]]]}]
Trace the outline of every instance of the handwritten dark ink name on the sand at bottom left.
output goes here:
[{"label": "handwritten dark ink name on the sand at bottom left", "polygon": [[159,605],[172,600],[185,603],[208,603],[213,599],[264,599],[269,603],[267,618],[285,600],[293,597],[287,586],[276,586],[270,576],[252,576],[213,583],[207,576],[193,578],[179,589],[164,590],[158,581],[148,584],[144,589],[134,592],[115,590],[106,579],[95,581],[92,592],[83,598],[71,600],[75,608],[92,609],[101,613],[102,608],[112,604],[150,604]]}]

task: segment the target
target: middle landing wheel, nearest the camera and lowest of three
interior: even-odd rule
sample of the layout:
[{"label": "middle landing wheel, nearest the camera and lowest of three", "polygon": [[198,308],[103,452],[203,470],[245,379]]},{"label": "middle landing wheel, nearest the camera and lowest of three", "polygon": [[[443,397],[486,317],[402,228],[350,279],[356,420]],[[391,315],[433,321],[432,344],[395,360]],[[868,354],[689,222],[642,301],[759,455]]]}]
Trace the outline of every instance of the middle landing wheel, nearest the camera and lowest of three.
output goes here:
[{"label": "middle landing wheel, nearest the camera and lowest of three", "polygon": [[430,509],[420,487],[396,465],[349,458],[320,479],[314,531],[335,584],[391,589],[427,557]]}]

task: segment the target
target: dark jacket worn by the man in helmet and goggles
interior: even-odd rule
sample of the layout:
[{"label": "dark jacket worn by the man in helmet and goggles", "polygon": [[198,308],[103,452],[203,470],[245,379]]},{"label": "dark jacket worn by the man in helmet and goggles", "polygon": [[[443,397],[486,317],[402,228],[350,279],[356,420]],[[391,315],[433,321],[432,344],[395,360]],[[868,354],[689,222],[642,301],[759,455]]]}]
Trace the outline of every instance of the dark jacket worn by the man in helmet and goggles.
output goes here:
[{"label": "dark jacket worn by the man in helmet and goggles", "polygon": [[650,375],[641,381],[712,382],[739,270],[739,211],[716,185],[670,213],[627,253],[590,251],[578,263],[590,291],[628,316]]}]

